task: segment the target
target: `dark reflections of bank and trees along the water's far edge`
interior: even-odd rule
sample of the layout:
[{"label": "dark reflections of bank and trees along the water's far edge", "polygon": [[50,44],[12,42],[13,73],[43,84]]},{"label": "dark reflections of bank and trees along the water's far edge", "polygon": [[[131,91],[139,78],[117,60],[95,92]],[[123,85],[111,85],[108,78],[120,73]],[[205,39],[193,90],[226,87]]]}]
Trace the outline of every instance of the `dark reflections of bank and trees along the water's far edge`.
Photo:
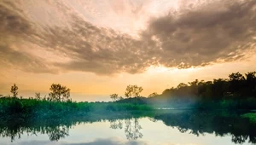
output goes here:
[{"label": "dark reflections of bank and trees along the water's far edge", "polygon": [[[150,113],[148,119],[152,122],[163,122],[166,127],[177,128],[182,133],[195,136],[213,134],[215,136],[231,136],[234,143],[256,143],[256,124],[249,119],[241,118],[240,113],[230,112],[172,112],[172,113]],[[140,123],[140,115],[129,114],[119,117],[92,119],[69,119],[51,121],[28,121],[19,119],[0,119],[0,136],[10,138],[11,142],[21,135],[38,136],[44,134],[49,136],[49,141],[59,141],[69,136],[73,126],[81,123],[94,123],[108,120],[109,127],[113,130],[124,131],[128,141],[136,141],[143,138],[143,124]],[[155,123],[156,124],[156,123]],[[145,126],[144,126],[145,127]],[[150,127],[150,126],[146,126]],[[1,137],[0,137],[1,138]]]}]

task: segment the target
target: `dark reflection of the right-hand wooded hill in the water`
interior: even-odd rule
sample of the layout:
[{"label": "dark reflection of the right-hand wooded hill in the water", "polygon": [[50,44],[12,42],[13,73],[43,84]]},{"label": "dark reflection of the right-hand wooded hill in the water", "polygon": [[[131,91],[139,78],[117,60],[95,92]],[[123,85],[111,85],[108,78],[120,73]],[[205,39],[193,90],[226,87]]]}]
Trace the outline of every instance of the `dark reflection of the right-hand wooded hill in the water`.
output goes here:
[{"label": "dark reflection of the right-hand wooded hill in the water", "polygon": [[195,136],[205,133],[215,136],[230,135],[231,141],[235,143],[244,143],[247,139],[251,143],[256,143],[256,124],[249,119],[241,118],[240,113],[166,113],[155,116],[155,119],[162,120],[168,126],[177,127],[180,132],[189,132]]}]

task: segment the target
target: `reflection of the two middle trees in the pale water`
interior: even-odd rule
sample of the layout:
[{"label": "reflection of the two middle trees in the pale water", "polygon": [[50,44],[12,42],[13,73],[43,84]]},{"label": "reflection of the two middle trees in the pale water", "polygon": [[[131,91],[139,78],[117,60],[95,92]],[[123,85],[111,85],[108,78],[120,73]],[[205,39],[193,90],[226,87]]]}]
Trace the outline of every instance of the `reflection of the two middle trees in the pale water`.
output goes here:
[{"label": "reflection of the two middle trees in the pale water", "polygon": [[142,128],[139,125],[138,119],[116,119],[110,121],[110,128],[112,129],[123,129],[123,125],[125,123],[125,136],[128,140],[137,140],[138,138],[142,138],[143,134],[140,132]]}]

